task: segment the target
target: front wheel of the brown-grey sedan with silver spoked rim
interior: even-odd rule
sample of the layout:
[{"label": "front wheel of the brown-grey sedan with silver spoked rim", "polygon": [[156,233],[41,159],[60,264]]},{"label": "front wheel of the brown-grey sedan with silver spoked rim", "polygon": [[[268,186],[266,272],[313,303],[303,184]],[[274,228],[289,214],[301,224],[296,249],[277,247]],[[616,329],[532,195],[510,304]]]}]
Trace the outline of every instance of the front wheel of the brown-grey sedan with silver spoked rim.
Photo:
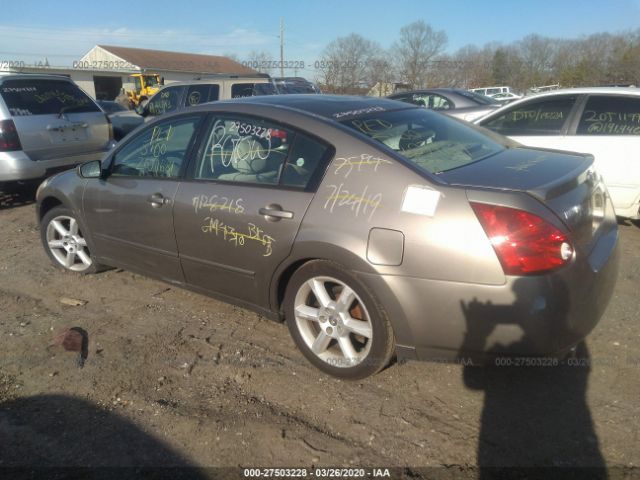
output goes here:
[{"label": "front wheel of the brown-grey sedan with silver spoked rim", "polygon": [[89,252],[80,223],[71,210],[55,207],[40,222],[44,249],[53,264],[78,273],[95,273],[100,269]]}]

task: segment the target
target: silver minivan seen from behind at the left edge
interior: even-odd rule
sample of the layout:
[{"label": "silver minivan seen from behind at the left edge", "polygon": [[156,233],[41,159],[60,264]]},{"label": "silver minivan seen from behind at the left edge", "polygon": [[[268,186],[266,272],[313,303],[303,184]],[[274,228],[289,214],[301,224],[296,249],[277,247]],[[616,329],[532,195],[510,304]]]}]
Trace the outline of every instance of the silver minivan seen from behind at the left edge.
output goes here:
[{"label": "silver minivan seen from behind at the left edge", "polygon": [[106,115],[69,78],[0,76],[0,184],[100,159],[112,138]]}]

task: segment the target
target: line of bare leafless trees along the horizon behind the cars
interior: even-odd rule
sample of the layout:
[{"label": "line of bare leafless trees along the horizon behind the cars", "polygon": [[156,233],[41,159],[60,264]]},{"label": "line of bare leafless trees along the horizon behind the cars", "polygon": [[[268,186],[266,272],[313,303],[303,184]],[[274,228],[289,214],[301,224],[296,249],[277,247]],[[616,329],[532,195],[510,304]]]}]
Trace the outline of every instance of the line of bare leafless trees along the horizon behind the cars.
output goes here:
[{"label": "line of bare leafless trees along the horizon behind the cars", "polygon": [[414,88],[510,85],[521,92],[556,83],[640,84],[640,29],[577,39],[533,34],[507,45],[467,45],[454,53],[444,53],[446,41],[444,32],[422,21],[402,28],[390,52],[352,34],[327,46],[319,80],[340,93],[394,81]]}]

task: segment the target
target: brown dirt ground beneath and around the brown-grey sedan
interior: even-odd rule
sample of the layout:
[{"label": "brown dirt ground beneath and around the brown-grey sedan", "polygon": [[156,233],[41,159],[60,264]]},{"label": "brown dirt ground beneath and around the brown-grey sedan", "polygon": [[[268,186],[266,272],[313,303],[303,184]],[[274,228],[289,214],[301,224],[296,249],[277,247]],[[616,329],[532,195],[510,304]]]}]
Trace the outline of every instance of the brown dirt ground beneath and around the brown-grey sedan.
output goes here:
[{"label": "brown dirt ground beneath and around the brown-grey sedan", "polygon": [[[350,383],[250,311],[57,270],[32,196],[0,194],[0,467],[640,465],[636,225],[620,225],[619,281],[580,366],[408,362]],[[49,346],[70,327],[88,334],[84,368]]]}]

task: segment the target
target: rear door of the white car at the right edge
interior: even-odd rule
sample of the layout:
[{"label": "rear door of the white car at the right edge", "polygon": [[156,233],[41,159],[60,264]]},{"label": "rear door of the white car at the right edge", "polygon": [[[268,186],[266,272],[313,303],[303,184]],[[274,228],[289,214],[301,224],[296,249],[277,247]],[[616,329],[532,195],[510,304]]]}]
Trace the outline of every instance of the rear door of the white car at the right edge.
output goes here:
[{"label": "rear door of the white car at the right edge", "polygon": [[589,96],[574,131],[566,149],[592,154],[616,210],[633,208],[640,194],[640,97]]}]

